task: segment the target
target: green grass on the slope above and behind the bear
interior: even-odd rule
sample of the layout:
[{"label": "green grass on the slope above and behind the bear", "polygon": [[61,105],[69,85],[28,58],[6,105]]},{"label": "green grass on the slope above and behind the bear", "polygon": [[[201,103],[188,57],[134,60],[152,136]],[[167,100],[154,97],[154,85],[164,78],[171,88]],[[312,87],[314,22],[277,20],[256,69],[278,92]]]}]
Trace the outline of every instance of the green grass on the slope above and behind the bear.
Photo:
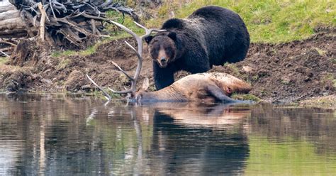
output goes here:
[{"label": "green grass on the slope above and behind the bear", "polygon": [[[308,38],[318,25],[335,26],[336,3],[325,0],[198,0],[189,4],[164,4],[158,9],[158,19],[147,26],[159,27],[174,11],[176,18],[185,18],[196,9],[217,5],[240,14],[251,35],[252,42],[279,43]],[[181,6],[181,8],[180,8]]]}]

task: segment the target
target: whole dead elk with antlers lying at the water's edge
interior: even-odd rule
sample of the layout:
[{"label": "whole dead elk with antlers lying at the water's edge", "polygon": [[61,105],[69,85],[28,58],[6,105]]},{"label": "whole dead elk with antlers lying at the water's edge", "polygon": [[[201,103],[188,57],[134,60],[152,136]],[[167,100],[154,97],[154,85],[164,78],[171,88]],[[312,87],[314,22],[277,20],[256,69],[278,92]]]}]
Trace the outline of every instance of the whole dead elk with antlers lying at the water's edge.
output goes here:
[{"label": "whole dead elk with antlers lying at the water's edge", "polygon": [[[136,84],[141,72],[142,67],[142,40],[143,38],[150,35],[152,32],[160,32],[162,30],[157,29],[147,29],[144,26],[136,23],[141,28],[145,29],[145,35],[138,36],[130,29],[121,25],[120,23],[116,23],[111,21],[116,26],[123,28],[126,32],[133,35],[138,44],[138,50],[133,48],[132,45],[126,42],[126,44],[135,52],[138,56],[138,67],[135,70],[135,75],[131,77],[128,75],[121,67],[119,67],[115,62],[112,62],[118,70],[123,72],[123,74],[130,79],[131,86],[130,89],[126,89],[124,91],[114,91],[110,89],[112,92],[117,94],[128,94],[129,101],[142,102],[142,101],[225,101],[225,102],[235,102],[235,99],[231,99],[228,97],[233,92],[249,92],[251,87],[246,82],[243,82],[241,79],[237,77],[233,77],[232,75],[228,75],[225,73],[199,73],[195,75],[189,75],[182,79],[179,79],[174,84],[169,87],[165,87],[164,89],[160,89],[155,92],[145,92],[145,89],[149,86],[149,80],[145,79],[144,84],[142,85],[142,89],[139,92],[136,92]],[[86,75],[89,80],[99,87],[94,80],[92,80],[89,75]],[[101,91],[106,95],[108,100],[111,100],[111,96],[105,92],[101,87],[99,87]],[[109,88],[108,88],[109,89]]]}]

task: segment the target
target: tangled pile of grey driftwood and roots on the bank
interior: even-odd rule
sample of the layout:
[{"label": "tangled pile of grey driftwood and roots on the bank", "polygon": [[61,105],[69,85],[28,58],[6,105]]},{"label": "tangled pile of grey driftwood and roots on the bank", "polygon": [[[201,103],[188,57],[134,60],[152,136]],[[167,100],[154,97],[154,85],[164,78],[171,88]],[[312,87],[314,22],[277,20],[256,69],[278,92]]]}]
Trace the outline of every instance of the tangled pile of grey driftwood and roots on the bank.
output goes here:
[{"label": "tangled pile of grey driftwood and roots on the bank", "polygon": [[38,36],[51,45],[80,49],[103,34],[104,22],[109,23],[106,11],[118,11],[139,21],[133,9],[112,0],[9,2],[0,2],[0,38],[3,39]]}]

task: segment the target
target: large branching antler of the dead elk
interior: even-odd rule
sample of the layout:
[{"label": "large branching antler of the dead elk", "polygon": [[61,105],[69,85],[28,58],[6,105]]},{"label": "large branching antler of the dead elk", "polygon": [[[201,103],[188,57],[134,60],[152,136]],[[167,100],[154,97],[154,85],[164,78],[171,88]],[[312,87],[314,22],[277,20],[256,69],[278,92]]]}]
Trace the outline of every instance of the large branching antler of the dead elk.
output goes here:
[{"label": "large branching antler of the dead elk", "polygon": [[[139,36],[137,35],[136,33],[134,33],[133,31],[130,31],[129,28],[126,28],[125,26],[123,26],[122,24],[120,23],[117,23],[115,21],[108,21],[110,23],[113,23],[115,24],[116,26],[118,26],[119,28],[122,28],[124,31],[126,31],[127,33],[129,33],[130,35],[133,36],[133,38],[135,38],[135,40],[137,41],[137,44],[138,44],[138,50],[136,50],[132,45],[130,45],[130,43],[128,43],[127,41],[125,41],[125,43],[128,45],[128,47],[130,47],[130,49],[132,49],[135,54],[138,56],[138,66],[135,70],[135,75],[134,77],[131,77],[130,75],[128,75],[121,67],[119,67],[119,65],[116,64],[116,62],[112,62],[112,64],[114,66],[116,66],[118,68],[118,70],[120,70],[121,72],[123,72],[124,75],[126,75],[126,77],[128,77],[128,79],[130,79],[130,89],[125,89],[124,91],[115,91],[111,88],[108,87],[108,89],[110,89],[113,93],[116,93],[116,94],[128,94],[128,93],[132,93],[134,94],[137,87],[137,81],[138,81],[138,78],[139,78],[139,75],[140,75],[140,72],[141,72],[141,68],[142,68],[142,40],[143,38],[149,36],[151,33],[153,32],[162,32],[162,31],[166,31],[166,30],[159,30],[159,29],[147,29],[145,28],[145,26],[142,26],[140,25],[139,23],[137,22],[134,22],[138,27],[140,28],[143,28],[145,29],[145,34],[142,35],[142,36]],[[89,75],[86,75],[86,77],[89,78],[89,80],[94,84],[96,85],[96,87],[98,87],[99,89],[101,89],[101,87],[98,86],[98,84],[96,84],[96,82],[94,82],[94,80],[92,80]],[[101,91],[106,95],[106,99],[111,100],[111,97],[105,92],[103,91],[103,89],[101,89]]]}]

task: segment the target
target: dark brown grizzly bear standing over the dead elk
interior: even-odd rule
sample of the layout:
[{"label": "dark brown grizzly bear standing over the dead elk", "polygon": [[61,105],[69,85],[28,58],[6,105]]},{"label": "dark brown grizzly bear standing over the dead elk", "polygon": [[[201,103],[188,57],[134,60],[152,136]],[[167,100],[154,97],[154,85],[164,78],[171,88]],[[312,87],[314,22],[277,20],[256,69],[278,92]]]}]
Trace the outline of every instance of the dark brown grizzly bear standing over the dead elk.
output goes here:
[{"label": "dark brown grizzly bear standing over the dead elk", "polygon": [[157,90],[172,84],[179,70],[194,74],[243,60],[250,45],[242,18],[220,6],[205,6],[185,19],[169,19],[162,29],[166,31],[145,38]]}]

